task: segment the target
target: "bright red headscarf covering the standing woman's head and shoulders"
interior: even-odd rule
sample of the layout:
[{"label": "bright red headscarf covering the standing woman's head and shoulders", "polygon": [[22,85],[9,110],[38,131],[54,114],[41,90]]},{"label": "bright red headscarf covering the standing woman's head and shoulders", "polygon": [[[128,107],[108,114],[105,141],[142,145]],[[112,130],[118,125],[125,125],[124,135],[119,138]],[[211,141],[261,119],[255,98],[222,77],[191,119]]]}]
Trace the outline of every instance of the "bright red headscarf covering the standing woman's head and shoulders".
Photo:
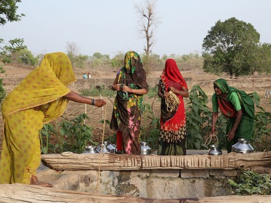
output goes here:
[{"label": "bright red headscarf covering the standing woman's head and shoulders", "polygon": [[[161,79],[164,81],[165,80],[165,88],[167,89],[170,85],[169,81],[173,81],[175,83],[180,83],[180,85],[182,87],[187,88],[186,82],[184,80],[184,78],[182,77],[181,72],[179,71],[179,68],[176,64],[176,61],[172,58],[168,58],[165,61],[165,65],[164,65],[164,70],[163,73],[161,75]],[[167,80],[169,80],[167,82]]]}]

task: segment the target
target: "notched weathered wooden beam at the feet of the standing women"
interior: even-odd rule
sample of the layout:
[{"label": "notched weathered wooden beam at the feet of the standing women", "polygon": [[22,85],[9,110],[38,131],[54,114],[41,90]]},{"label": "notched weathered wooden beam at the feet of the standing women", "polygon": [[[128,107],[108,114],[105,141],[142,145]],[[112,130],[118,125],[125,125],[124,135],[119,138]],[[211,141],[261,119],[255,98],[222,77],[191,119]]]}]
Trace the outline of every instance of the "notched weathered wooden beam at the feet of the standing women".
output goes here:
[{"label": "notched weathered wooden beam at the feet of the standing women", "polygon": [[[100,154],[43,154],[42,161],[54,170],[97,170]],[[101,170],[138,170],[138,169],[240,169],[251,166],[271,165],[271,152],[228,153],[224,155],[102,155]]]}]

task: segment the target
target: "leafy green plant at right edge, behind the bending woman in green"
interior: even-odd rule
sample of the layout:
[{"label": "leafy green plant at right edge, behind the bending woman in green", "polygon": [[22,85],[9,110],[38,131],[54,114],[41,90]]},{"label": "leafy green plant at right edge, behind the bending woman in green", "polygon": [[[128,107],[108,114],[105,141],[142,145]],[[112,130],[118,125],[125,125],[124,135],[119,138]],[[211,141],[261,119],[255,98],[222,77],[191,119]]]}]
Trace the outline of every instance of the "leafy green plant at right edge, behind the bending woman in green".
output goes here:
[{"label": "leafy green plant at right edge, behind the bending woman in green", "polygon": [[254,118],[254,132],[252,135],[252,145],[255,151],[271,150],[271,113],[260,106],[260,97],[256,92],[249,94],[256,104],[256,113]]}]

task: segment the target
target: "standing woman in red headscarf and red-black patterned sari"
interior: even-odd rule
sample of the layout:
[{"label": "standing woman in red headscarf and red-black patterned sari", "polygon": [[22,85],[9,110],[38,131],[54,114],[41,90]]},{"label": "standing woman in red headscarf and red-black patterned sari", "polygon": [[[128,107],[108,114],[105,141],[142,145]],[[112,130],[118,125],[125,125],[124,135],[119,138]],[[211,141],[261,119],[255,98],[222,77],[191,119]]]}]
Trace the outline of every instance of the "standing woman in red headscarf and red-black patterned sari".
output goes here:
[{"label": "standing woman in red headscarf and red-black patterned sari", "polygon": [[[162,100],[158,155],[185,155],[186,132],[183,97],[188,97],[187,85],[172,58],[165,61],[165,67],[160,77],[158,96]],[[168,111],[165,104],[169,91],[180,100],[179,105],[172,111]]]}]

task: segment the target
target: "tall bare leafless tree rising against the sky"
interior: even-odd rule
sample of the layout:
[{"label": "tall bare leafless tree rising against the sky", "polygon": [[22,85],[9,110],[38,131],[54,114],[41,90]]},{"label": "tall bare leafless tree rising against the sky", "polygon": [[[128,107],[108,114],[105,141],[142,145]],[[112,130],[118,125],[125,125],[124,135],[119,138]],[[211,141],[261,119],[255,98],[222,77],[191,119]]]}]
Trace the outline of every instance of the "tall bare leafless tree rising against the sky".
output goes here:
[{"label": "tall bare leafless tree rising against the sky", "polygon": [[143,3],[135,4],[135,9],[140,16],[138,30],[146,38],[147,45],[144,47],[144,51],[147,57],[152,52],[154,31],[160,23],[156,8],[157,4],[155,0],[144,0]]}]

